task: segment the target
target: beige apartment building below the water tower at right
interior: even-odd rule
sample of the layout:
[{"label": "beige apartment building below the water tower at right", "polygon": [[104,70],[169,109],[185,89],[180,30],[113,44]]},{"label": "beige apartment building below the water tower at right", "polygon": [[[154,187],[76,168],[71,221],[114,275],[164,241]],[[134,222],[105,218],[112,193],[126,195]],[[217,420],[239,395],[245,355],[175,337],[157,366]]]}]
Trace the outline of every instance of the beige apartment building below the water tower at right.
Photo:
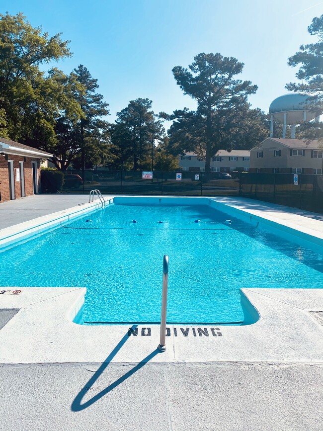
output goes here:
[{"label": "beige apartment building below the water tower at right", "polygon": [[267,138],[251,149],[249,172],[322,174],[322,156],[318,140]]}]

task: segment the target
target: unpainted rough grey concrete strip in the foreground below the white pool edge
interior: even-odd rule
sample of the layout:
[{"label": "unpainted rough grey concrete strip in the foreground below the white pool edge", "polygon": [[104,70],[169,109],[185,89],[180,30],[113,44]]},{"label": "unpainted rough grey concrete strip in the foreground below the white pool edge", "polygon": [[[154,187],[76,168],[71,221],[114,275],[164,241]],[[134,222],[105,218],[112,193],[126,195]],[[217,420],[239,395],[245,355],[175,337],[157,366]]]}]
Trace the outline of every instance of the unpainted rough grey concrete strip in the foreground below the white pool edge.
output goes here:
[{"label": "unpainted rough grey concrete strip in the foreground below the white pool edge", "polygon": [[0,384],[5,431],[321,431],[323,424],[322,364],[2,365]]}]

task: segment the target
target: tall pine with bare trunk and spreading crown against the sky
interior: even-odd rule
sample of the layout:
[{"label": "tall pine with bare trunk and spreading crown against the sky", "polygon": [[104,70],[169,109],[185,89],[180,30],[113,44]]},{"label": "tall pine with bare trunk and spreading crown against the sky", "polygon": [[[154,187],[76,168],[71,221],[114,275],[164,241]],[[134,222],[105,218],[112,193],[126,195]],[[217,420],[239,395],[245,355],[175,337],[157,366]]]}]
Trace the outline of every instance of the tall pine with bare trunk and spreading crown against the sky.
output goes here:
[{"label": "tall pine with bare trunk and spreading crown against the sky", "polygon": [[[172,72],[177,84],[197,101],[196,117],[203,129],[205,170],[210,171],[211,157],[219,147],[219,135],[227,118],[233,118],[246,106],[247,96],[257,90],[250,81],[234,77],[242,73],[243,63],[221,54],[201,53],[194,57],[189,70],[181,66]],[[228,128],[228,124],[226,126]]]}]

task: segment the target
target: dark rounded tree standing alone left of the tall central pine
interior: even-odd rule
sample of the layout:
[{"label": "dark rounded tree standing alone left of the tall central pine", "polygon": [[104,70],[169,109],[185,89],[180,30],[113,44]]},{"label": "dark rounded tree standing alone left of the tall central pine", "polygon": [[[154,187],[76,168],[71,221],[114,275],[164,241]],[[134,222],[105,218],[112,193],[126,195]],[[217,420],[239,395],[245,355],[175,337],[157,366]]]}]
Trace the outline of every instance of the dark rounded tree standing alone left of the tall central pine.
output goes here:
[{"label": "dark rounded tree standing alone left of the tall central pine", "polygon": [[117,113],[116,124],[112,127],[112,144],[120,148],[123,162],[129,158],[133,160],[134,171],[147,168],[153,145],[164,132],[161,120],[151,110],[152,103],[147,98],[130,100],[128,106]]}]

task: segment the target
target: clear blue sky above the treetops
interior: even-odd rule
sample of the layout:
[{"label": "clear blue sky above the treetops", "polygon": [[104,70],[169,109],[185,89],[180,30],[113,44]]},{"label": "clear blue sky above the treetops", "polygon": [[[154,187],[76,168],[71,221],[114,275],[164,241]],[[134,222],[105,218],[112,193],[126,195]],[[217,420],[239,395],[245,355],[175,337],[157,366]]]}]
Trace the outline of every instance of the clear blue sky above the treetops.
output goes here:
[{"label": "clear blue sky above the treetops", "polygon": [[[258,86],[249,101],[268,112],[286,93],[296,69],[288,56],[312,43],[307,27],[323,14],[318,0],[10,0],[1,13],[23,12],[50,35],[62,32],[74,53],[57,67],[69,73],[83,64],[116,112],[129,100],[148,97],[155,112],[195,103],[172,76],[200,52],[220,52],[244,63],[240,78]],[[239,77],[237,77],[239,78]]]}]

